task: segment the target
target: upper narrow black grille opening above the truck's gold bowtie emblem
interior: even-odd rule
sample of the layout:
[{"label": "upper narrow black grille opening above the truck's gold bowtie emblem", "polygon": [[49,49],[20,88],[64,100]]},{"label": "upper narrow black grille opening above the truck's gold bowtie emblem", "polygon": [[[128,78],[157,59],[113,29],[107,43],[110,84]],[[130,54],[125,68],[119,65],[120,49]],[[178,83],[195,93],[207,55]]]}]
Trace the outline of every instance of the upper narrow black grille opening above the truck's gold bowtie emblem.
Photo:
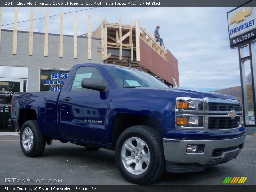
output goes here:
[{"label": "upper narrow black grille opening above the truck's gold bowtie emblem", "polygon": [[240,111],[239,104],[230,104],[230,103],[208,103],[209,111]]}]

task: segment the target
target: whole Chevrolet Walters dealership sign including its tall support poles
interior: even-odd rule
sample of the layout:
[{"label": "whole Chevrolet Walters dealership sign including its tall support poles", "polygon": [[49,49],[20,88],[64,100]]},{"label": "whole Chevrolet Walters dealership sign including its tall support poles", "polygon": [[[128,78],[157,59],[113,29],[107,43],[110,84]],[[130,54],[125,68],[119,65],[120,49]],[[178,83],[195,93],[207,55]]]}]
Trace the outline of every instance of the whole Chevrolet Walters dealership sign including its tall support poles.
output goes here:
[{"label": "whole Chevrolet Walters dealership sign including its tall support poles", "polygon": [[[246,68],[245,62],[250,62],[250,72],[252,76],[252,104],[253,110],[255,106],[255,86],[256,86],[256,66],[255,66],[255,48],[256,44],[256,0],[247,2],[236,9],[227,12],[228,18],[228,34],[230,40],[230,48],[238,48],[240,80],[242,86],[243,114],[244,126],[249,126],[248,115],[248,86],[246,84]],[[249,55],[244,55],[249,48]],[[247,63],[247,62],[246,62]],[[254,125],[256,126],[255,122]]]}]

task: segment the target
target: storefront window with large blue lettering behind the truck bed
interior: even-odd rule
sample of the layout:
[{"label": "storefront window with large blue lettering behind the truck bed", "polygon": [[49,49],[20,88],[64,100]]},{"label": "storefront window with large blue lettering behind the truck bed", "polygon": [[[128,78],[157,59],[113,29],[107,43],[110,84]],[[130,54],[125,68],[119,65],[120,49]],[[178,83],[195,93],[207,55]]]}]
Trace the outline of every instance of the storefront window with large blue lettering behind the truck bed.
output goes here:
[{"label": "storefront window with large blue lettering behind the truck bed", "polygon": [[61,91],[68,77],[65,70],[40,70],[40,91]]}]

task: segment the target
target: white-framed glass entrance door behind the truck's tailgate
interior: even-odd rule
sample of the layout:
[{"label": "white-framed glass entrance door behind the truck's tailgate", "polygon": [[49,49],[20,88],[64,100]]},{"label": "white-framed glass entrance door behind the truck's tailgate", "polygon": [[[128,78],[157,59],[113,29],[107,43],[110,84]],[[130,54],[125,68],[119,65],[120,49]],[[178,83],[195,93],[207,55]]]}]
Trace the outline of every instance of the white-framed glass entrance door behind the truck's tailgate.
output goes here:
[{"label": "white-framed glass entrance door behind the truck's tailgate", "polygon": [[0,78],[0,131],[13,131],[8,127],[11,117],[11,99],[15,92],[27,90],[27,79]]}]

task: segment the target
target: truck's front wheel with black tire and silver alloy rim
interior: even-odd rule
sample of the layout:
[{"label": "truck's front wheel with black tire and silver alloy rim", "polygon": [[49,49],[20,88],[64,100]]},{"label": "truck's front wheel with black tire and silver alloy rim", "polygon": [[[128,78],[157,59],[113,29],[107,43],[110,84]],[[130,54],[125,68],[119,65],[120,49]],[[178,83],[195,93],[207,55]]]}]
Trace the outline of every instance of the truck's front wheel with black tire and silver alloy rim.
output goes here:
[{"label": "truck's front wheel with black tire and silver alloy rim", "polygon": [[143,125],[127,128],[116,142],[115,159],[119,172],[129,182],[155,182],[165,170],[161,133]]}]

